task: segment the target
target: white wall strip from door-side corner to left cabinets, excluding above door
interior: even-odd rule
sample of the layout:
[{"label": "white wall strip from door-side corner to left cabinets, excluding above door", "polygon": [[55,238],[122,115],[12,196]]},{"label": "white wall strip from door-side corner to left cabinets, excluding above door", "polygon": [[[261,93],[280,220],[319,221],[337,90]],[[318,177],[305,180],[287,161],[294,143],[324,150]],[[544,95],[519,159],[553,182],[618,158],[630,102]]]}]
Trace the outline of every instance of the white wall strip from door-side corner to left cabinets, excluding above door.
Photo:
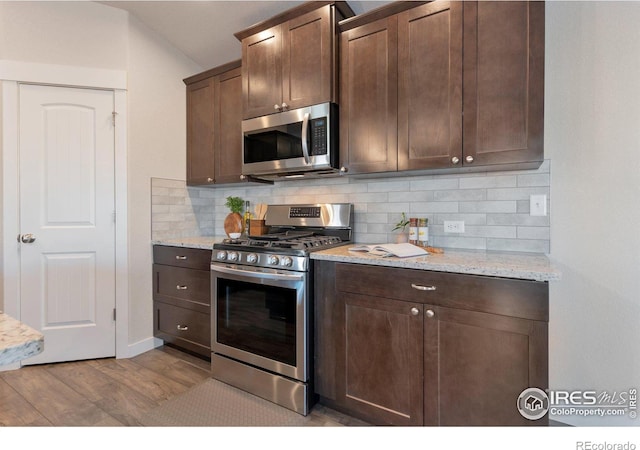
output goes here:
[{"label": "white wall strip from door-side corner to left cabinets, excluding above door", "polygon": [[153,334],[151,177],[184,179],[183,78],[202,71],[134,17],[129,20],[129,342]]}]

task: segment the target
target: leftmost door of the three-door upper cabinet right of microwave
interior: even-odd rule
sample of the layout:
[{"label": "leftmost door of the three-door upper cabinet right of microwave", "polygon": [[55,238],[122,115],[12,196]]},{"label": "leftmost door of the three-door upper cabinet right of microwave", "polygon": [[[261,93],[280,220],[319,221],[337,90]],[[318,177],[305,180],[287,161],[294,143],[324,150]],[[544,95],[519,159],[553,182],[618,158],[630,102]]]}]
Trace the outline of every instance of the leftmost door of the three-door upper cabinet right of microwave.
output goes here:
[{"label": "leftmost door of the three-door upper cabinet right of microwave", "polygon": [[341,34],[340,159],[349,173],[398,169],[397,17]]}]

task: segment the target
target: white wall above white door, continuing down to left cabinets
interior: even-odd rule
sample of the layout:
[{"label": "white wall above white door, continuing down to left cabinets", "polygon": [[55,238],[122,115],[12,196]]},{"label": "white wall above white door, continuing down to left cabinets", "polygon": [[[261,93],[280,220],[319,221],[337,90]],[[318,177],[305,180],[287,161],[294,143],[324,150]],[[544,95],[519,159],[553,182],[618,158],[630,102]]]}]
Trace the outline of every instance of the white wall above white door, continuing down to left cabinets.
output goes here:
[{"label": "white wall above white door, continuing down to left cabinets", "polygon": [[184,177],[182,79],[202,68],[94,2],[0,2],[0,59],[127,71],[129,344],[151,342],[150,177]]}]

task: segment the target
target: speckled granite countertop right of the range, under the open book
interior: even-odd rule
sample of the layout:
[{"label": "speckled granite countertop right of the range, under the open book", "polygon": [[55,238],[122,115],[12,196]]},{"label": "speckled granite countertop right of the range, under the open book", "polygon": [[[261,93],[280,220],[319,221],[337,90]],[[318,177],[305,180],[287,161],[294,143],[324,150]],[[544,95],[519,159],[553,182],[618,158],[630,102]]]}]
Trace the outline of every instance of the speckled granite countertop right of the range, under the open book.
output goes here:
[{"label": "speckled granite countertop right of the range, under the open book", "polygon": [[534,281],[557,281],[561,275],[546,255],[537,253],[444,249],[444,254],[396,258],[352,252],[351,247],[343,245],[313,252],[311,259]]}]

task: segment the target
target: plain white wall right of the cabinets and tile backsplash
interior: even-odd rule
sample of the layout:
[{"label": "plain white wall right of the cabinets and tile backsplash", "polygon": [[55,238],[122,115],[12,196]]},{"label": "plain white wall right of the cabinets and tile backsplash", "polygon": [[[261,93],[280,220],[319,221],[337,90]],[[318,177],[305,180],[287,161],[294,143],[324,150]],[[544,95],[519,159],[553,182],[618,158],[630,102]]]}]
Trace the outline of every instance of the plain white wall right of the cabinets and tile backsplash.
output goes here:
[{"label": "plain white wall right of the cabinets and tile backsplash", "polygon": [[[547,2],[550,387],[640,386],[640,3]],[[555,417],[574,425],[640,425]]]}]

